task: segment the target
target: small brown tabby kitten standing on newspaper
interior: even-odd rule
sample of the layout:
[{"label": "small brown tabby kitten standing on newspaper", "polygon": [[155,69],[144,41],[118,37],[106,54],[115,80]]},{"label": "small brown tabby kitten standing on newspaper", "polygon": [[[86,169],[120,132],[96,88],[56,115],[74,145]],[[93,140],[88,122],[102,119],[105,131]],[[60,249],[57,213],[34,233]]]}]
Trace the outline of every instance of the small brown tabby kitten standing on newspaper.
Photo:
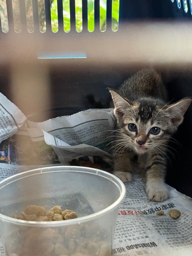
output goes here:
[{"label": "small brown tabby kitten standing on newspaper", "polygon": [[168,142],[182,123],[192,99],[167,104],[161,76],[152,69],[137,72],[116,91],[109,90],[117,125],[114,175],[129,182],[137,164],[146,171],[148,199],[166,200],[169,197],[164,183]]}]

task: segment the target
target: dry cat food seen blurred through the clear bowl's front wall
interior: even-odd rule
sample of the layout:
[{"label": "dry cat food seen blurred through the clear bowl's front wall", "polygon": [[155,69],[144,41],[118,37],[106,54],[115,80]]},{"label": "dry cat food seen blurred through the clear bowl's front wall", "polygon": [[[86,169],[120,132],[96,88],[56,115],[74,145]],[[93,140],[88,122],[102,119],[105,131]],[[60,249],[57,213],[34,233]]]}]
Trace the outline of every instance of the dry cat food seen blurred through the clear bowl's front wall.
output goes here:
[{"label": "dry cat food seen blurred through the clear bowl's front wall", "polygon": [[22,226],[6,239],[8,256],[111,256],[110,230],[97,223],[70,224],[44,228]]}]

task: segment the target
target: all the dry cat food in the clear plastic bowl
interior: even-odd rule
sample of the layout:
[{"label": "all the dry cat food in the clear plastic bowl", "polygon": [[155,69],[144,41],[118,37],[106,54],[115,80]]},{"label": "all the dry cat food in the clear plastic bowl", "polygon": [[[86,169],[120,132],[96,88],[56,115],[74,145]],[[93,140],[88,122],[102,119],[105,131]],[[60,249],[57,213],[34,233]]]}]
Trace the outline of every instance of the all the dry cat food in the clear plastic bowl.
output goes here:
[{"label": "all the dry cat food in the clear plastic bowl", "polygon": [[[77,218],[72,210],[62,211],[61,206],[50,210],[42,206],[29,205],[21,216],[14,218],[35,221],[55,221]],[[60,224],[61,223],[61,224]],[[46,225],[17,225],[5,238],[5,252],[8,256],[111,256],[111,241],[104,224],[97,220],[69,223],[54,222]]]}]

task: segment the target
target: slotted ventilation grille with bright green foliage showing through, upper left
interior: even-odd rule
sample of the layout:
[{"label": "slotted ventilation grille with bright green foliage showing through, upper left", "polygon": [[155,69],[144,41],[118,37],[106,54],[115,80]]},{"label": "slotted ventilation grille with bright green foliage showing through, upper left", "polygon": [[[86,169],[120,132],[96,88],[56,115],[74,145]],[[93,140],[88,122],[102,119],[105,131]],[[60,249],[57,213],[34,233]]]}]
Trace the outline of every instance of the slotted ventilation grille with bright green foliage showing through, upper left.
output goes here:
[{"label": "slotted ventilation grille with bright green foliage showing through, upper left", "polygon": [[[118,30],[120,0],[0,0],[2,31],[52,32]],[[108,23],[108,24],[107,24]]]}]

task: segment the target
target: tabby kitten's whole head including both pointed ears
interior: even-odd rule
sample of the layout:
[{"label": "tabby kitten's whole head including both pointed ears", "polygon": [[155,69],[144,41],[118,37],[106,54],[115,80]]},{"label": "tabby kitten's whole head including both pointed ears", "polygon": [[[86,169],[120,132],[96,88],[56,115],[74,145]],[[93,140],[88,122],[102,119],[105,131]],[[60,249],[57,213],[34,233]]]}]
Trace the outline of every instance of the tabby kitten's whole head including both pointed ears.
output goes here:
[{"label": "tabby kitten's whole head including both pointed ears", "polygon": [[184,99],[171,106],[159,100],[140,99],[128,102],[117,92],[110,91],[114,101],[114,115],[118,130],[116,149],[144,154],[152,151],[160,154],[166,148],[169,138],[183,121],[183,115],[191,103]]}]

